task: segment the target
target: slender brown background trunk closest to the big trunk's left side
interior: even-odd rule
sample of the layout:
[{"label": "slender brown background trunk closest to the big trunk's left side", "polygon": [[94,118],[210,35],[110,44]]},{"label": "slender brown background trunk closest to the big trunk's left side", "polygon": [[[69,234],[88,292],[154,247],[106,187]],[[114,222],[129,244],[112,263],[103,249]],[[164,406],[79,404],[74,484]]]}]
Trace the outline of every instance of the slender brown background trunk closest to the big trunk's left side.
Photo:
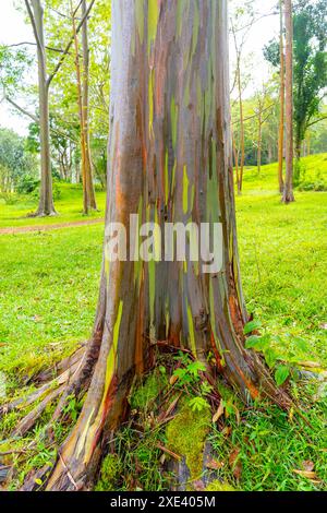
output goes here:
[{"label": "slender brown background trunk closest to the big trunk's left side", "polygon": [[85,17],[85,22],[82,27],[82,48],[83,48],[83,121],[84,121],[84,140],[86,144],[86,184],[87,184],[87,196],[89,202],[89,208],[97,210],[97,203],[95,198],[94,182],[93,182],[93,170],[92,170],[92,157],[90,157],[90,145],[89,145],[89,94],[88,94],[88,79],[89,79],[89,48],[88,48],[88,23],[87,23],[87,8],[86,0],[82,1],[82,17]]}]

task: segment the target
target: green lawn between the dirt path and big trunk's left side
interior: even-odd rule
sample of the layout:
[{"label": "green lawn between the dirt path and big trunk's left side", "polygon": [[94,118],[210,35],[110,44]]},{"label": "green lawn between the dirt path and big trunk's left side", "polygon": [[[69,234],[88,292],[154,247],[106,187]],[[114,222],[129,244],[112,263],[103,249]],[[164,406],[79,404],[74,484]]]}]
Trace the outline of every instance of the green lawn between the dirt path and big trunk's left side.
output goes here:
[{"label": "green lawn between the dirt path and big trunk's left side", "polygon": [[94,321],[101,225],[0,236],[0,370],[45,366]]}]

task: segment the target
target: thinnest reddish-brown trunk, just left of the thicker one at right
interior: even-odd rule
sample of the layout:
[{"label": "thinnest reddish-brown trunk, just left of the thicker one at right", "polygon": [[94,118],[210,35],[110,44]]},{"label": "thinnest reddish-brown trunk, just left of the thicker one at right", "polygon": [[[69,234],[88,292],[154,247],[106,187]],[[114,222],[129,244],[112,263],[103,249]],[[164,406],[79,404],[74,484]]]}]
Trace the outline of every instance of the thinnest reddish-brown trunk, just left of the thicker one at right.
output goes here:
[{"label": "thinnest reddish-brown trunk, just left of the thicker one at right", "polygon": [[283,135],[284,135],[284,55],[283,55],[283,0],[279,0],[280,10],[280,91],[279,91],[279,138],[278,138],[278,184],[279,192],[283,192]]}]

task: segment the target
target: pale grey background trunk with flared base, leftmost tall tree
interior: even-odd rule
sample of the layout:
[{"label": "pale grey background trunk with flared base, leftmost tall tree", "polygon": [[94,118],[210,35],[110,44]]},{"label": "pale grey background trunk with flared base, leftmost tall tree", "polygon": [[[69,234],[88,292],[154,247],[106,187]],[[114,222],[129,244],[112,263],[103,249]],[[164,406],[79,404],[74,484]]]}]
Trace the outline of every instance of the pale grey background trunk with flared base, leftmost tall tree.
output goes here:
[{"label": "pale grey background trunk with flared base, leftmost tall tree", "polygon": [[36,216],[56,215],[52,195],[52,174],[50,157],[49,86],[47,82],[47,57],[45,46],[44,9],[40,0],[32,0],[37,39],[38,97],[40,129],[40,195]]}]

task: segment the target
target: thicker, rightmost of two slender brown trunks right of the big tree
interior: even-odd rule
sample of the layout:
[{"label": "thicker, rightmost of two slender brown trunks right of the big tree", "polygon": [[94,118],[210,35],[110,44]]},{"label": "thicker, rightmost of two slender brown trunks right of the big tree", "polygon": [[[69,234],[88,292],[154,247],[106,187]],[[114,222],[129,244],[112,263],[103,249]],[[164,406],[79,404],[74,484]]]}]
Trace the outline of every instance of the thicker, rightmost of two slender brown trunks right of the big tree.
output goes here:
[{"label": "thicker, rightmost of two slender brown trunks right of the big tree", "polygon": [[286,180],[282,201],[291,203],[293,194],[293,15],[292,0],[284,0],[286,17]]}]

